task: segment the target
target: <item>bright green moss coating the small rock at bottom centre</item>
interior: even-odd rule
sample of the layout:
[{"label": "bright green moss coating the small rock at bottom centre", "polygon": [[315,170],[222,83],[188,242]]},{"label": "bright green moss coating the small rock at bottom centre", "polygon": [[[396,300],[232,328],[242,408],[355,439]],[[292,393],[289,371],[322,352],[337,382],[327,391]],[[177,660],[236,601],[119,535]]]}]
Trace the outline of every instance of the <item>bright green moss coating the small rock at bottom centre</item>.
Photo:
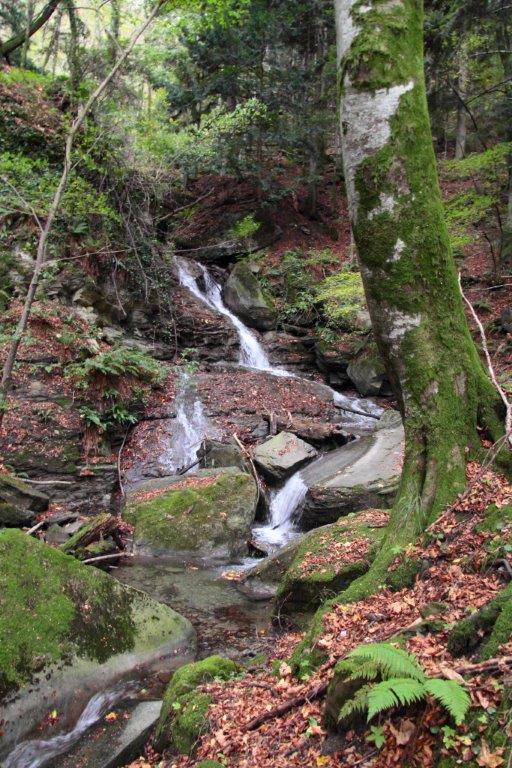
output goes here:
[{"label": "bright green moss coating the small rock at bottom centre", "polygon": [[[155,732],[157,748],[163,749],[171,741],[175,742],[175,721],[178,715],[181,718],[185,709],[189,709],[187,706],[189,699],[187,697],[193,694],[199,685],[215,679],[228,680],[237,672],[238,666],[235,662],[225,659],[223,656],[210,656],[207,659],[196,661],[193,664],[186,664],[178,669],[167,687],[162,703],[162,711]],[[183,743],[188,738],[187,734],[193,730],[189,729],[187,724],[189,721],[196,722],[197,711],[190,708],[190,712],[188,712],[184,722],[176,725],[176,733],[180,743]],[[197,734],[195,738],[197,738]],[[193,741],[195,741],[195,738]],[[176,746],[178,746],[177,743]],[[179,751],[182,751],[181,748],[179,748]],[[187,749],[183,751],[183,753],[186,752],[188,752]]]}]

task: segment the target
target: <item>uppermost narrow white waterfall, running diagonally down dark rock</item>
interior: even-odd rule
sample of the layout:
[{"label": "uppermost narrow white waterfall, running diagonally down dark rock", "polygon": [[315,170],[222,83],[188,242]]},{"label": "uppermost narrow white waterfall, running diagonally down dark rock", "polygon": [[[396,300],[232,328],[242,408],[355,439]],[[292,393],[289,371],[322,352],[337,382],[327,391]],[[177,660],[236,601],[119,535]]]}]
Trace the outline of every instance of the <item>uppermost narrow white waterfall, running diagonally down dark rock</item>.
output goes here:
[{"label": "uppermost narrow white waterfall, running diagonally down dark rock", "polygon": [[270,360],[258,341],[256,334],[249,330],[246,325],[233,312],[230,312],[222,300],[222,291],[220,285],[213,279],[203,264],[197,265],[202,273],[205,284],[205,290],[202,291],[197,280],[191,275],[187,264],[184,261],[178,262],[178,278],[180,283],[206,304],[210,309],[219,312],[227,317],[238,333],[240,340],[240,364],[248,368],[254,368],[257,371],[267,371],[275,376],[292,376],[283,368],[275,368],[270,364]]}]

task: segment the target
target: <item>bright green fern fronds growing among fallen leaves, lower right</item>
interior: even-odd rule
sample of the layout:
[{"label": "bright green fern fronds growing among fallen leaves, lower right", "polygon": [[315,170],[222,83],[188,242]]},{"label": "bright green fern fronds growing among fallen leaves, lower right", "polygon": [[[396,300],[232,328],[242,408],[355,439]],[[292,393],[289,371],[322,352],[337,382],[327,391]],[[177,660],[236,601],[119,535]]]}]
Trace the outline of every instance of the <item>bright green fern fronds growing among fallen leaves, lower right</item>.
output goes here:
[{"label": "bright green fern fronds growing among fallen leaves, lower right", "polygon": [[367,712],[370,721],[384,710],[417,704],[432,696],[460,725],[471,706],[471,699],[460,683],[427,677],[412,654],[388,643],[359,645],[337,665],[336,671],[348,681],[369,681],[343,704],[341,720]]}]

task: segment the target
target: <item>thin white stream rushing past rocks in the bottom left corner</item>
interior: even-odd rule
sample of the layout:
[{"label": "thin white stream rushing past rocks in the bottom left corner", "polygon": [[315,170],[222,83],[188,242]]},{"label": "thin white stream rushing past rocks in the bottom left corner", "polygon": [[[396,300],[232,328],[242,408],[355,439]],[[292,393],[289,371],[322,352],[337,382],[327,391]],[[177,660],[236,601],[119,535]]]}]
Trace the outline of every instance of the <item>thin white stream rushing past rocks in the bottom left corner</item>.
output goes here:
[{"label": "thin white stream rushing past rocks in the bottom left corner", "polygon": [[61,733],[53,739],[23,741],[2,763],[3,768],[42,768],[58,755],[65,754],[86,731],[122,699],[137,690],[135,683],[127,683],[110,691],[97,693],[89,701],[73,730]]}]

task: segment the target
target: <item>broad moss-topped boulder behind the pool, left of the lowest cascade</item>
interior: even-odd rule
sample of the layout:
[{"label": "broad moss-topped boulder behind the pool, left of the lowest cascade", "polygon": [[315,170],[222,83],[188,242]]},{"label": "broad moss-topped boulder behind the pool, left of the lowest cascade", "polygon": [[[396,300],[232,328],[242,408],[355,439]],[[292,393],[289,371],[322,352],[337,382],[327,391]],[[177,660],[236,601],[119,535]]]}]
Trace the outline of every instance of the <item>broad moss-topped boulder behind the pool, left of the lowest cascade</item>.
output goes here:
[{"label": "broad moss-topped boulder behind the pool, left of the lowest cascade", "polygon": [[252,475],[236,469],[210,484],[178,488],[148,501],[130,500],[126,519],[135,525],[135,541],[158,549],[212,549],[245,540],[254,516],[256,486]]}]

